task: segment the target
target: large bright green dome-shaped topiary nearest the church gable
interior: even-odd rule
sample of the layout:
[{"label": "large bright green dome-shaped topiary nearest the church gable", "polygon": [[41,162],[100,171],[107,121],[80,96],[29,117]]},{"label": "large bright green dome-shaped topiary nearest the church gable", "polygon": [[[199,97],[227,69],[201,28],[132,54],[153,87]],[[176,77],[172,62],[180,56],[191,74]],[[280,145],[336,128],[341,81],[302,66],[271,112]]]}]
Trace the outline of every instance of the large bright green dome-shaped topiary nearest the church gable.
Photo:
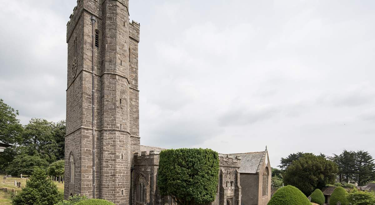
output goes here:
[{"label": "large bright green dome-shaped topiary nearest the church gable", "polygon": [[267,205],[311,205],[309,199],[292,185],[279,188]]}]

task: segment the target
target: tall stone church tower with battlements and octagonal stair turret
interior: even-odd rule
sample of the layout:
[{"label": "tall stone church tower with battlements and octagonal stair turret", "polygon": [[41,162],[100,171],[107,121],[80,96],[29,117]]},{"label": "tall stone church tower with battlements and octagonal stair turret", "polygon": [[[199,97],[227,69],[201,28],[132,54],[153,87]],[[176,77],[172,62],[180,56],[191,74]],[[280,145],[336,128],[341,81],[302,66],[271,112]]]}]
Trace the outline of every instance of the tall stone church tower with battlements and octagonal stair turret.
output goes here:
[{"label": "tall stone church tower with battlements and octagonal stair turret", "polygon": [[78,0],[67,24],[65,198],[128,205],[139,151],[139,24],[128,0]]}]

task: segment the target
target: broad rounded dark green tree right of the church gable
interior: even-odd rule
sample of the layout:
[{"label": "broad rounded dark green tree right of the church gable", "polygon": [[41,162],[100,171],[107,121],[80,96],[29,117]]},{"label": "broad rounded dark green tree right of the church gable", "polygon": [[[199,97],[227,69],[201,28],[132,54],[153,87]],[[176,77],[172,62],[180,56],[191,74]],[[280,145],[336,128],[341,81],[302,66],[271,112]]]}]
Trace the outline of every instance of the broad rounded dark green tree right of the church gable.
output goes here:
[{"label": "broad rounded dark green tree right of the church gable", "polygon": [[337,172],[332,161],[309,154],[293,161],[285,170],[284,185],[293,185],[309,196],[316,188],[335,182]]}]

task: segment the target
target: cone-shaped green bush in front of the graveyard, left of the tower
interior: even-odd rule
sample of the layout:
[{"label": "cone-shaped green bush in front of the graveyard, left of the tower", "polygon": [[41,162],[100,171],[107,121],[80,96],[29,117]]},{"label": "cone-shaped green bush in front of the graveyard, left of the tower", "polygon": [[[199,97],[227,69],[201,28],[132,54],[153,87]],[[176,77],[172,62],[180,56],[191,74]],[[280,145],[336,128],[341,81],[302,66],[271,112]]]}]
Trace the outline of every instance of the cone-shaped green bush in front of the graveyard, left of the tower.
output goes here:
[{"label": "cone-shaped green bush in front of the graveyard, left of the tower", "polygon": [[57,186],[48,179],[45,170],[35,168],[21,193],[12,197],[13,205],[51,205],[63,199]]}]

